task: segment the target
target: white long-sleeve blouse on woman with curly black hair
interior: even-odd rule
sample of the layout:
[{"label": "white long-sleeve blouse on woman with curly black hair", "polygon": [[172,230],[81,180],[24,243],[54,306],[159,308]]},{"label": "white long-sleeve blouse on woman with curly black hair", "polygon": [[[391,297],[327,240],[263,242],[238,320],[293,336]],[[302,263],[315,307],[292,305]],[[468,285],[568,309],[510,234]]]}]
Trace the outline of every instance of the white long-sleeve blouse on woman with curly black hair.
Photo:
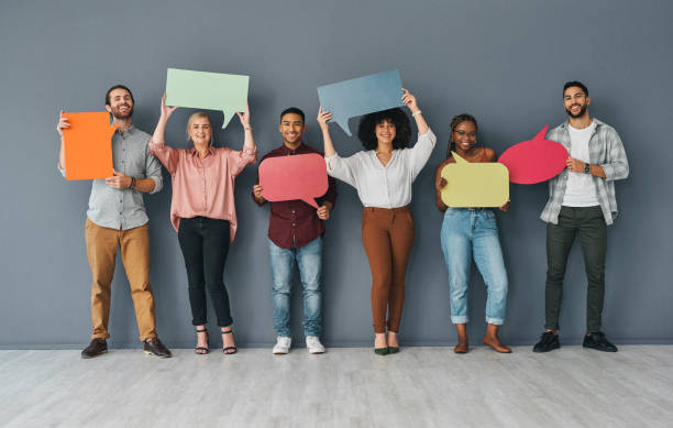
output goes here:
[{"label": "white long-sleeve blouse on woman with curly black hair", "polygon": [[411,149],[393,151],[383,166],[376,151],[357,152],[350,157],[326,157],[328,174],[357,189],[365,207],[399,208],[411,202],[411,185],[434,147],[437,136],[428,130]]}]

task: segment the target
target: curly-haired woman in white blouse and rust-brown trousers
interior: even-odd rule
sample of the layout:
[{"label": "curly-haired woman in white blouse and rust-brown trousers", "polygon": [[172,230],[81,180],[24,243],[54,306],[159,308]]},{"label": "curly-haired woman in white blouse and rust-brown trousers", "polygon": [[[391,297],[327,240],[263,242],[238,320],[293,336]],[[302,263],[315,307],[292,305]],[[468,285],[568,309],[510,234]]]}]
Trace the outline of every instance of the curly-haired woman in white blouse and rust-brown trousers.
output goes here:
[{"label": "curly-haired woman in white blouse and rust-brown trousers", "polygon": [[334,150],[328,127],[332,114],[322,108],[318,112],[328,174],[355,187],[364,206],[362,242],[372,270],[374,352],[379,355],[399,352],[397,332],[405,301],[407,263],[413,245],[413,219],[409,211],[411,185],[437,141],[416,97],[406,89],[402,102],[418,127],[418,142],[413,147],[407,147],[411,136],[409,118],[401,109],[390,109],[362,118],[357,136],[366,150],[350,157],[341,157]]}]

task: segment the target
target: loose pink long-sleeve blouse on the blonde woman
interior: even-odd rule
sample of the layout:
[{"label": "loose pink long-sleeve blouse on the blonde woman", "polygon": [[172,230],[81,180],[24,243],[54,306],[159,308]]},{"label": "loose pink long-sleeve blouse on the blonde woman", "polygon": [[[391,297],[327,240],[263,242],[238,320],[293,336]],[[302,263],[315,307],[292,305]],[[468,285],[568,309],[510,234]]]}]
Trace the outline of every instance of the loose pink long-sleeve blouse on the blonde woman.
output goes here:
[{"label": "loose pink long-sleeve blouse on the blonde woman", "polygon": [[236,233],[234,180],[243,168],[257,161],[257,151],[210,147],[201,160],[196,149],[173,149],[150,141],[155,155],[173,178],[170,222],[178,230],[180,218],[208,217],[229,221],[230,243]]}]

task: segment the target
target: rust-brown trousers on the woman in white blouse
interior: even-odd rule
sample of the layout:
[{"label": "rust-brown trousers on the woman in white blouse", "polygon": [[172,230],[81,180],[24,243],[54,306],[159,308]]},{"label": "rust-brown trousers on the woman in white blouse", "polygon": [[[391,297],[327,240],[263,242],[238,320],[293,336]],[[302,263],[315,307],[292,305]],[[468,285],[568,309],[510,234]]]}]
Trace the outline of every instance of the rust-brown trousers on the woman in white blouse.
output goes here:
[{"label": "rust-brown trousers on the woman in white blouse", "polygon": [[374,332],[399,331],[405,304],[405,276],[413,245],[413,219],[408,207],[365,207],[362,243],[372,270],[372,318]]}]

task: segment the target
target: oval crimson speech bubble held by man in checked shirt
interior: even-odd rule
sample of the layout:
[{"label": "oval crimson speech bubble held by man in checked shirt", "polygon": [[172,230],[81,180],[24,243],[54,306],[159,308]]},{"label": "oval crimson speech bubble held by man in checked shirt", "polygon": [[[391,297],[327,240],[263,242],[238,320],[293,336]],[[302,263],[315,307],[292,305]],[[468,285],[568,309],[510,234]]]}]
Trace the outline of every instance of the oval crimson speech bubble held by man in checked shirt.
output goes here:
[{"label": "oval crimson speech bubble held by man in checked shirt", "polygon": [[509,169],[511,183],[542,183],[565,168],[567,150],[563,144],[544,138],[548,129],[545,125],[532,140],[515,144],[500,155],[498,162]]}]

